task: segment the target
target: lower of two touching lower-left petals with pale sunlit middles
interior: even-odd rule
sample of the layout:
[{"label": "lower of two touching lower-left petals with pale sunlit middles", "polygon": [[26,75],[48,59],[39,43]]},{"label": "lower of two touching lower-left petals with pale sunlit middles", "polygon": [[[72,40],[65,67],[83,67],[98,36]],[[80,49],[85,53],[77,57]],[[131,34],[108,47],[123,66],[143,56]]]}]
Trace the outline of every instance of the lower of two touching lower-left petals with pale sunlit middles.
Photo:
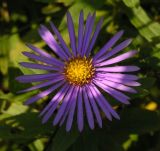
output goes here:
[{"label": "lower of two touching lower-left petals with pale sunlit middles", "polygon": [[[46,123],[48,119],[51,117],[51,115],[54,113],[56,110],[58,104],[60,103],[61,100],[63,100],[64,96],[66,95],[67,91],[69,89],[69,85],[65,84],[59,92],[52,98],[52,100],[49,102],[49,104],[46,106],[48,108],[47,112],[45,113],[42,123]],[[46,109],[45,108],[45,109]],[[44,110],[45,110],[44,109]],[[42,111],[44,114],[44,110]]]}]

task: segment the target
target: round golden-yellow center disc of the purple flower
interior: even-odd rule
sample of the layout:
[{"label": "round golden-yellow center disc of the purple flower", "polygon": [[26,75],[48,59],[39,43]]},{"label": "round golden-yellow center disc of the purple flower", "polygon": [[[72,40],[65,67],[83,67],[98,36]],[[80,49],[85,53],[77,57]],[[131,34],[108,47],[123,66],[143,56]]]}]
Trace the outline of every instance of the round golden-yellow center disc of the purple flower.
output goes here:
[{"label": "round golden-yellow center disc of the purple flower", "polygon": [[66,62],[64,75],[70,84],[84,85],[91,81],[95,69],[92,65],[92,59],[86,57],[73,58]]}]

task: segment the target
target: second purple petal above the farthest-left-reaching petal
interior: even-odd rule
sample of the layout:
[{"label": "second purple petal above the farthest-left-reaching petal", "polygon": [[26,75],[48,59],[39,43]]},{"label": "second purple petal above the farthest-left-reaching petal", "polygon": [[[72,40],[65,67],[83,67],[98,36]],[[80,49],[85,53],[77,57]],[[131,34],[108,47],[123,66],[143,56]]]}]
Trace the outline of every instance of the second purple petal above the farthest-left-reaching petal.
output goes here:
[{"label": "second purple petal above the farthest-left-reaching petal", "polygon": [[61,61],[59,61],[55,58],[47,58],[47,57],[44,57],[44,56],[37,56],[37,55],[35,55],[33,53],[30,53],[30,52],[22,52],[22,53],[23,53],[23,55],[27,56],[30,59],[41,61],[41,62],[50,64],[50,65],[53,65],[53,66],[60,66],[60,67],[64,66],[63,62],[61,62]]}]

